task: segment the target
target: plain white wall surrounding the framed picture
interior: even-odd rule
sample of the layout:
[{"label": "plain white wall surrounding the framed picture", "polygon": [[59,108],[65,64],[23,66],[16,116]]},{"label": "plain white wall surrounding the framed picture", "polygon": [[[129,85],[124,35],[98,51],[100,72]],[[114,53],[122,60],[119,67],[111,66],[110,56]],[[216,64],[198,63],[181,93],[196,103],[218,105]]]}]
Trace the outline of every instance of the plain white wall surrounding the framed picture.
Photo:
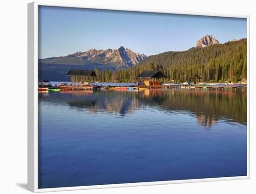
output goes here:
[{"label": "plain white wall surrounding the framed picture", "polygon": [[[2,0],[0,5],[0,193],[27,191],[27,3],[30,0]],[[136,7],[180,11],[249,14],[251,85],[255,84],[256,12],[252,0],[52,0],[91,6]],[[255,89],[251,88],[251,110],[255,109]],[[68,194],[252,194],[256,182],[255,111],[251,111],[251,178],[143,187],[67,191]],[[61,192],[54,192],[59,194]]]}]

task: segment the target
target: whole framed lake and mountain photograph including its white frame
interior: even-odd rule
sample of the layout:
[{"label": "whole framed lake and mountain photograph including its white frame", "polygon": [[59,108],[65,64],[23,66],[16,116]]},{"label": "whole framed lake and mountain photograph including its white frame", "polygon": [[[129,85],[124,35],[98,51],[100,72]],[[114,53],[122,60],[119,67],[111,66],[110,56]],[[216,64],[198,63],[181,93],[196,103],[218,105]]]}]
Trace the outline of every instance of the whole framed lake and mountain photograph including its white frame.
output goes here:
[{"label": "whole framed lake and mountain photograph including its white frame", "polygon": [[29,3],[28,190],[248,179],[249,84],[248,15]]}]

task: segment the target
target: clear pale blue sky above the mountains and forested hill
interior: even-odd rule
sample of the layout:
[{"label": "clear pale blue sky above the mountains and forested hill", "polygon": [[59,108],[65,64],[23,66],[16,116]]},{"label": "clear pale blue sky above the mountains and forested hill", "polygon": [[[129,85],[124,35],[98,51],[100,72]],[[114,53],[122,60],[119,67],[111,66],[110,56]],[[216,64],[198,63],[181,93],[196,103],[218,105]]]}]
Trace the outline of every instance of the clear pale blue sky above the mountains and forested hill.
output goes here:
[{"label": "clear pale blue sky above the mountains and forested hill", "polygon": [[212,34],[220,43],[246,38],[246,19],[69,7],[39,8],[39,58],[120,46],[149,56],[188,50],[206,34]]}]

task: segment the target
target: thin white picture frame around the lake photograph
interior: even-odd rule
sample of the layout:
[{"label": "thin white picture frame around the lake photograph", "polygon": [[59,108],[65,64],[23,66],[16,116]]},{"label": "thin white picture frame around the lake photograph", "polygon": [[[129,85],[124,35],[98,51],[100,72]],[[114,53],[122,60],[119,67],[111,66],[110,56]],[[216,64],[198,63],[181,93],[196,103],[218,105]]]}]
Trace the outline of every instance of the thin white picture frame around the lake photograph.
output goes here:
[{"label": "thin white picture frame around the lake photograph", "polygon": [[224,181],[224,180],[238,180],[249,179],[249,134],[250,134],[250,82],[248,82],[247,89],[247,175],[238,177],[223,177],[223,178],[206,178],[206,179],[192,179],[179,181],[154,181],[154,182],[140,182],[140,183],[125,183],[125,184],[111,184],[111,185],[95,185],[95,186],[80,186],[80,187],[57,187],[57,188],[43,188],[38,187],[38,9],[39,6],[56,6],[56,7],[79,7],[79,8],[94,8],[94,9],[108,9],[108,10],[122,10],[122,11],[139,11],[152,13],[176,13],[187,15],[202,15],[202,16],[219,16],[219,17],[235,17],[245,18],[247,20],[247,78],[249,78],[249,15],[231,15],[231,14],[215,14],[215,13],[197,13],[197,12],[182,12],[174,10],[158,10],[158,9],[141,9],[132,8],[126,9],[124,7],[88,7],[87,5],[74,5],[62,3],[45,3],[32,2],[28,4],[28,131],[27,131],[27,149],[28,149],[28,190],[32,192],[49,192],[49,191],[68,191],[81,189],[95,189],[95,188],[109,188],[109,187],[133,187],[145,185],[162,185],[174,183],[189,183],[202,181]]}]

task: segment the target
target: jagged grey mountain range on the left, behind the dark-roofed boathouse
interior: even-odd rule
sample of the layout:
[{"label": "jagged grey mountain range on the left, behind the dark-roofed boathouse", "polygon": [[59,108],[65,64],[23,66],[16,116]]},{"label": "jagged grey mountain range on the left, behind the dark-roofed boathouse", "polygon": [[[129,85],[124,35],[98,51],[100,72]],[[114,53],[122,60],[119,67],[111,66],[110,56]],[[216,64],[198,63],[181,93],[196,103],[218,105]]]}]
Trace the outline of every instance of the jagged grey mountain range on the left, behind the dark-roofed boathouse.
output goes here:
[{"label": "jagged grey mountain range on the left, behind the dark-roofed boathouse", "polygon": [[124,47],[118,49],[75,52],[61,57],[39,59],[39,77],[46,80],[63,80],[70,69],[116,70],[134,67],[145,60],[145,54],[138,54]]}]

